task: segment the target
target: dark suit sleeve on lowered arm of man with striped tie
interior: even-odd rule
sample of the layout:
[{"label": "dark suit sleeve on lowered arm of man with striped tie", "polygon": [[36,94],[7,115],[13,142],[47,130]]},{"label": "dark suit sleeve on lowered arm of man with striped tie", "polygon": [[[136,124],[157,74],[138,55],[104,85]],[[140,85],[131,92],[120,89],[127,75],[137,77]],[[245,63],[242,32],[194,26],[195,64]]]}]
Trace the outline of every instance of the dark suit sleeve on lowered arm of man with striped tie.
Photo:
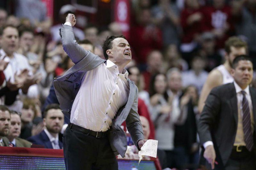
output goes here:
[{"label": "dark suit sleeve on lowered arm of man with striped tie", "polygon": [[212,141],[211,130],[220,112],[220,105],[218,88],[213,88],[205,101],[204,109],[198,121],[197,128],[201,144]]}]

